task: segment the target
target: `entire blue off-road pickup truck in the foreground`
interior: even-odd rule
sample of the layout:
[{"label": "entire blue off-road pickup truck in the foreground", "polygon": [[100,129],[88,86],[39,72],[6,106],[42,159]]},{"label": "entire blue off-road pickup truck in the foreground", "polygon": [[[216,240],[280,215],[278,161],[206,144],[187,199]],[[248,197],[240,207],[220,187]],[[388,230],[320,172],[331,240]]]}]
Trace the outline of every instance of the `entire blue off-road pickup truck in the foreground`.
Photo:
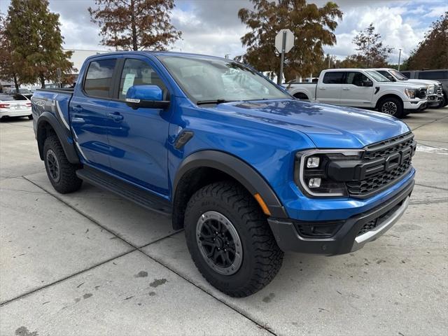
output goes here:
[{"label": "entire blue off-road pickup truck in the foreground", "polygon": [[301,102],[230,59],[96,55],[73,89],[31,102],[55,190],[85,181],[171,216],[204,278],[234,297],[266,286],[283,251],[337,255],[377,239],[414,188],[405,123]]}]

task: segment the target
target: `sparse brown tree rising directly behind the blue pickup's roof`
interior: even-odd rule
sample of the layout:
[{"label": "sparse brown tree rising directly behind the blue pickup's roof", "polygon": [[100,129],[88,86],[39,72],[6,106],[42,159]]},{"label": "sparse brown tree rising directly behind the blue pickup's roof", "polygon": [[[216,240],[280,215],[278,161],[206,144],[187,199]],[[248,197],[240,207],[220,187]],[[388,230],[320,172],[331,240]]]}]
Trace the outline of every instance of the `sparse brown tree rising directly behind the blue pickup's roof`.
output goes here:
[{"label": "sparse brown tree rising directly behind the blue pickup's roof", "polygon": [[123,50],[165,50],[181,37],[171,24],[174,0],[95,0],[92,22],[101,28],[101,43]]}]

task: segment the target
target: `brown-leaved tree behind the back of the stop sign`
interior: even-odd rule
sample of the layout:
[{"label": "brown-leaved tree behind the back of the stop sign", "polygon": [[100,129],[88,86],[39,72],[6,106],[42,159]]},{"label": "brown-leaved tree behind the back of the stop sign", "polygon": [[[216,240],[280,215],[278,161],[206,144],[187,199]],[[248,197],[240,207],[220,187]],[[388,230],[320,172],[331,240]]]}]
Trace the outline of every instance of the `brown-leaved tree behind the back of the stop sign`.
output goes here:
[{"label": "brown-leaved tree behind the back of the stop sign", "polygon": [[323,57],[323,45],[336,43],[335,19],[342,18],[337,4],[330,1],[319,8],[306,0],[251,1],[253,10],[241,8],[238,12],[241,22],[251,31],[241,37],[247,51],[237,59],[259,71],[272,71],[281,78],[274,40],[280,29],[288,28],[293,31],[295,45],[285,55],[286,80],[316,71]]}]

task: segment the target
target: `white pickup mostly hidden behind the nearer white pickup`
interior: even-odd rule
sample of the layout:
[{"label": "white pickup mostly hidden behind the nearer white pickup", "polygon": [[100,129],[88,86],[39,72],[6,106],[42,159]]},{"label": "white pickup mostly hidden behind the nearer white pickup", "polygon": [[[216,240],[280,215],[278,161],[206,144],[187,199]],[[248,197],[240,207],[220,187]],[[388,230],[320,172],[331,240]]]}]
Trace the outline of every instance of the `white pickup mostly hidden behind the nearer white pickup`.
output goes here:
[{"label": "white pickup mostly hidden behind the nearer white pickup", "polygon": [[442,83],[437,80],[423,80],[423,79],[409,79],[402,75],[399,71],[389,68],[370,69],[381,73],[391,82],[406,82],[408,84],[424,85],[426,86],[426,98],[428,99],[428,107],[439,108],[444,103]]}]

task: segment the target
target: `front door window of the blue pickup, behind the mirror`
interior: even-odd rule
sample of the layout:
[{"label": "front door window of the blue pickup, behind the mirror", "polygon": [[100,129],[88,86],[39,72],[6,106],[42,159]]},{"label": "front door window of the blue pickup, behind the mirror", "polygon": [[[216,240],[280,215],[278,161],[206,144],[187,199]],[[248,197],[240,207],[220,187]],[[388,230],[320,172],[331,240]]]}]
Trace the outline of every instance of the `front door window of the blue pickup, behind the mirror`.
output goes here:
[{"label": "front door window of the blue pickup, behind the mirror", "polygon": [[164,93],[167,92],[162,79],[148,63],[140,59],[126,59],[121,73],[118,98],[124,100],[127,90],[133,85],[157,85]]}]

